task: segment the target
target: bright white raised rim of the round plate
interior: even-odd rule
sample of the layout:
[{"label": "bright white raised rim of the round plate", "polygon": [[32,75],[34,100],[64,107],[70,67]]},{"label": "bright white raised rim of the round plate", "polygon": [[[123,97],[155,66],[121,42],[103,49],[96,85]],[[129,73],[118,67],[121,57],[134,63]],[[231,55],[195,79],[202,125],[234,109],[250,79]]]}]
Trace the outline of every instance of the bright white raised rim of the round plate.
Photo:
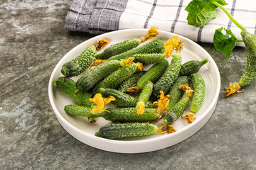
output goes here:
[{"label": "bright white raised rim of the round plate", "polygon": [[[54,101],[53,101],[53,77],[54,77],[54,74],[56,72],[56,70],[58,69],[58,67],[60,67],[60,63],[62,63],[63,60],[65,60],[65,58],[70,55],[70,53],[72,53],[73,51],[75,51],[78,47],[80,47],[80,45],[86,43],[87,41],[90,41],[92,39],[97,39],[99,37],[102,37],[102,36],[105,36],[105,35],[111,35],[111,34],[115,34],[115,33],[123,33],[123,32],[130,32],[130,31],[144,31],[146,32],[148,29],[144,29],[144,28],[136,28],[136,29],[124,29],[124,30],[114,30],[112,32],[109,32],[109,33],[104,33],[104,34],[101,34],[101,35],[96,35],[95,37],[93,38],[89,38],[83,42],[80,42],[80,44],[76,45],[75,47],[73,47],[70,51],[68,51],[59,61],[58,63],[55,65],[54,69],[53,69],[53,72],[51,72],[50,74],[50,79],[49,79],[49,84],[48,84],[48,98],[50,100],[50,105],[51,107],[53,108],[53,112],[55,113],[55,116],[57,117],[59,123],[60,123],[60,120],[65,123],[65,125],[68,126],[68,128],[70,128],[71,130],[73,131],[76,131],[82,135],[84,135],[85,137],[90,137],[92,138],[92,140],[97,140],[97,141],[100,141],[100,142],[107,142],[107,143],[114,143],[114,144],[122,144],[122,145],[136,145],[136,144],[142,144],[142,143],[145,143],[145,142],[159,142],[159,140],[166,140],[170,137],[175,137],[181,133],[183,133],[184,131],[186,130],[189,130],[191,128],[195,128],[198,123],[200,123],[204,118],[206,118],[206,116],[208,116],[208,113],[210,113],[210,111],[213,109],[213,112],[215,110],[215,106],[217,105],[217,102],[218,102],[218,96],[220,94],[220,72],[218,70],[218,67],[217,67],[217,64],[215,63],[215,61],[213,60],[213,58],[210,56],[210,54],[203,48],[201,47],[201,45],[198,45],[196,42],[194,42],[193,40],[190,40],[186,37],[183,37],[182,35],[178,35],[176,33],[170,33],[170,32],[167,32],[167,31],[164,31],[164,30],[158,30],[159,31],[159,34],[161,33],[165,33],[165,34],[169,34],[170,36],[174,36],[174,35],[178,35],[179,38],[183,38],[183,40],[186,40],[186,41],[189,41],[191,42],[192,44],[195,44],[197,45],[199,48],[201,48],[201,50],[203,50],[203,52],[206,52],[206,54],[208,54],[208,57],[210,57],[210,62],[212,62],[213,66],[215,67],[214,69],[217,71],[216,72],[216,79],[218,80],[218,82],[216,82],[217,86],[216,86],[216,93],[213,97],[213,101],[212,103],[210,103],[210,106],[206,109],[206,111],[199,117],[196,119],[196,123],[191,123],[189,125],[186,125],[186,127],[182,128],[181,130],[178,130],[177,132],[175,133],[171,133],[171,134],[168,134],[168,135],[162,135],[161,137],[155,137],[155,138],[151,138],[151,139],[145,139],[145,140],[133,140],[133,141],[123,141],[123,140],[109,140],[109,139],[105,139],[105,138],[102,138],[102,137],[96,137],[95,135],[91,135],[91,134],[88,134],[87,132],[84,132],[82,130],[80,130],[79,128],[76,128],[74,125],[72,125],[71,123],[68,122],[68,120],[66,120],[65,118],[63,118],[63,116],[60,114],[60,112],[58,111],[58,108],[56,108],[55,104],[54,104]],[[211,113],[212,115],[213,113]],[[211,117],[210,115],[210,117]],[[210,119],[210,117],[208,119]],[[207,120],[208,121],[208,120]],[[207,123],[206,121],[206,123]],[[206,123],[204,123],[203,125],[205,125]],[[60,125],[62,125],[62,123],[60,123]],[[62,125],[63,126],[63,125]],[[202,126],[203,127],[203,126]],[[68,130],[63,127],[67,132]],[[200,130],[201,128],[199,128]],[[196,132],[198,132],[198,130],[196,130]],[[195,133],[196,133],[195,132]],[[70,132],[68,132],[70,134]],[[194,133],[193,133],[194,134]],[[192,134],[192,135],[193,135]],[[72,134],[70,134],[72,135]],[[74,137],[74,135],[72,135]],[[189,136],[190,137],[190,136]],[[77,137],[75,137],[77,140],[79,140]],[[186,139],[188,139],[188,137],[186,137]],[[185,139],[185,140],[186,140]],[[80,140],[81,141],[81,140]],[[182,142],[183,140],[181,140],[180,142]],[[81,141],[82,142],[82,141]],[[82,143],[85,143],[85,142],[82,142]],[[178,143],[178,142],[177,142]],[[86,145],[88,145],[87,143],[85,143]],[[90,145],[92,146],[92,145]],[[92,146],[94,147],[94,146]],[[171,147],[171,145],[169,146]],[[98,149],[102,149],[102,148],[99,148],[97,147]],[[107,150],[107,149],[103,149],[103,150]],[[158,150],[158,149],[154,149],[154,150]],[[152,151],[154,151],[152,150]],[[110,150],[108,150],[110,151]],[[110,151],[110,152],[114,152],[114,151]],[[145,151],[145,152],[150,152],[150,151]],[[122,152],[122,153],[127,153],[127,152]],[[131,152],[131,153],[139,153],[139,152]]]}]

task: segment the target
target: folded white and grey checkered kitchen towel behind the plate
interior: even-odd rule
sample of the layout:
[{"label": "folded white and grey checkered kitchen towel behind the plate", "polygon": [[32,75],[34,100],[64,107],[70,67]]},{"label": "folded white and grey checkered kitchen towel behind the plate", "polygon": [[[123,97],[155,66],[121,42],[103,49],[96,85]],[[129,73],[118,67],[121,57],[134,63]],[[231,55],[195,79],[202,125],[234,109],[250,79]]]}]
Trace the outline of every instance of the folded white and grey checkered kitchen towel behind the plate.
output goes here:
[{"label": "folded white and grey checkered kitchen towel behind the plate", "polygon": [[[240,29],[218,8],[217,18],[201,28],[189,26],[186,6],[191,0],[73,0],[65,18],[65,29],[101,34],[127,28],[166,30],[196,42],[213,42],[217,28]],[[225,8],[250,33],[256,34],[256,0],[226,0]]]}]

